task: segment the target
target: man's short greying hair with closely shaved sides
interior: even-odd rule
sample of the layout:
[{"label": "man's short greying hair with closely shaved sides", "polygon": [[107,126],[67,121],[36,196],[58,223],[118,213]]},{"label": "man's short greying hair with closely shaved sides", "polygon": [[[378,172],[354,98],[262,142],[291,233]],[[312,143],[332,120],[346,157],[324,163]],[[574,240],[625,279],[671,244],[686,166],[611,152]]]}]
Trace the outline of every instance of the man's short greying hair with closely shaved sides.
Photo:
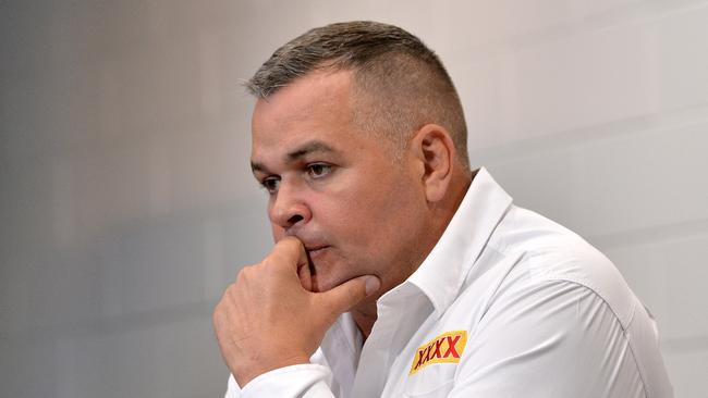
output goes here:
[{"label": "man's short greying hair with closely shaved sides", "polygon": [[355,21],[317,27],[289,41],[246,82],[268,98],[317,71],[353,71],[355,121],[404,144],[428,123],[447,128],[468,167],[467,127],[460,97],[438,55],[406,30]]}]

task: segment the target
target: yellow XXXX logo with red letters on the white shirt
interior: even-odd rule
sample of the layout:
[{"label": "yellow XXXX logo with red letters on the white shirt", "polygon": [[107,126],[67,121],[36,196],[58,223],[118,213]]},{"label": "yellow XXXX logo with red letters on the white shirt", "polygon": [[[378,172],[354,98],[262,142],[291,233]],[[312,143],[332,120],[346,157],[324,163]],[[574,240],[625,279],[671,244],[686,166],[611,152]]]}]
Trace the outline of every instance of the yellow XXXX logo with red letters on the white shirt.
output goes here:
[{"label": "yellow XXXX logo with red letters on the white shirt", "polygon": [[460,356],[462,356],[466,344],[466,331],[452,331],[441,334],[416,349],[408,375],[431,363],[460,362]]}]

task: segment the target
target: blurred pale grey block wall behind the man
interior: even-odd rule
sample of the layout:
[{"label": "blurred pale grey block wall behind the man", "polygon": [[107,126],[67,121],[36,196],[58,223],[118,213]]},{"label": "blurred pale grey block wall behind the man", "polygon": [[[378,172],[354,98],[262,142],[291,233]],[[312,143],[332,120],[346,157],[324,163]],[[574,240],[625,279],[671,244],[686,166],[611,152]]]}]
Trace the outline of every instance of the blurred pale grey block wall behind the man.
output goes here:
[{"label": "blurred pale grey block wall behind the man", "polygon": [[223,394],[211,309],[271,246],[240,84],[347,20],[440,54],[472,163],[614,260],[708,397],[698,0],[0,0],[0,395]]}]

